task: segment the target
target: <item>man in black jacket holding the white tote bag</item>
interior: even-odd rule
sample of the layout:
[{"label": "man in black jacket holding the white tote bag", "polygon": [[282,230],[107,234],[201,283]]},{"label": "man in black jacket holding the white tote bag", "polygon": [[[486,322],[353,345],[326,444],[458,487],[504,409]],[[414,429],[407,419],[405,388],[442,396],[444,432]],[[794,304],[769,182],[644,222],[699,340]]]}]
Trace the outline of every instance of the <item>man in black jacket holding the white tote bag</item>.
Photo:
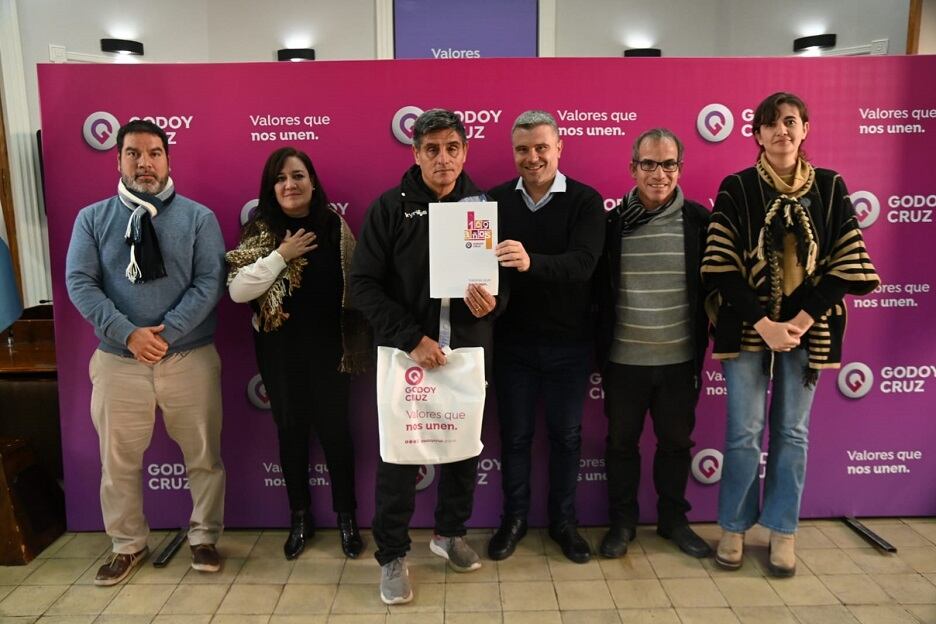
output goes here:
[{"label": "man in black jacket holding the white tote bag", "polygon": [[[468,154],[465,127],[447,110],[426,111],[413,126],[416,164],[367,212],[351,266],[351,295],[367,317],[378,345],[401,349],[423,368],[445,365],[440,326],[451,328],[451,347],[484,347],[490,362],[496,300],[470,286],[464,300],[443,306],[429,297],[429,204],[483,201],[462,169]],[[444,312],[443,312],[444,311]],[[446,319],[447,320],[443,320]],[[481,567],[464,540],[477,479],[477,457],[440,467],[435,534],[430,550],[459,571]],[[413,599],[405,556],[415,508],[419,466],[378,460],[373,531],[386,604]]]}]

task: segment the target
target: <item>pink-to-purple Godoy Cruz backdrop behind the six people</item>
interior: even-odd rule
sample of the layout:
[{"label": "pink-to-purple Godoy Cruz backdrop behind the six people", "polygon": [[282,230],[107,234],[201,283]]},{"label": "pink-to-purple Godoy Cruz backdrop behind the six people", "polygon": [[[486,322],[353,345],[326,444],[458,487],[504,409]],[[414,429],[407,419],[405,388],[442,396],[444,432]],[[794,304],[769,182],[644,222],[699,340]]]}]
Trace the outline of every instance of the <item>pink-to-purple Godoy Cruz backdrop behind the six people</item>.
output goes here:
[{"label": "pink-to-purple Godoy Cruz backdrop behind the six people", "polygon": [[[933,75],[936,57],[40,66],[69,527],[92,530],[102,523],[88,410],[87,365],[96,340],[68,301],[65,252],[78,210],[115,191],[115,150],[96,149],[112,140],[115,123],[153,117],[167,126],[179,192],[215,211],[232,247],[260,168],[283,144],[309,152],[330,200],[357,230],[370,202],[412,163],[410,148],[397,138],[412,121],[406,107],[463,114],[471,136],[466,170],[485,188],[515,175],[513,119],[528,108],[550,111],[565,135],[562,170],[596,187],[608,208],[632,186],[626,166],[633,138],[667,126],[686,144],[686,195],[709,204],[726,174],[753,163],[751,109],[778,90],[795,91],[809,104],[805,147],[815,164],[844,176],[884,281],[881,292],[848,301],[846,366],[820,379],[803,513],[936,514],[936,284],[929,251],[936,233],[936,82],[927,78]],[[270,116],[280,119],[265,124]],[[250,314],[225,299],[218,315],[226,521],[282,525],[287,509],[273,423],[250,400],[259,397],[262,405],[252,382]],[[693,520],[715,516],[725,409],[719,370],[710,362],[703,379],[689,484]],[[584,524],[607,519],[598,382],[596,375],[586,398],[578,494]],[[373,378],[358,380],[353,396],[359,517],[369,524],[377,457]],[[496,406],[489,403],[474,526],[495,525],[500,514]],[[158,429],[144,466],[146,511],[154,527],[179,526],[190,506],[181,456]],[[545,437],[536,444],[538,461],[545,462]],[[645,475],[653,444],[648,432]],[[312,462],[313,504],[329,522],[329,479],[317,447]],[[534,470],[535,522],[545,519],[544,474]],[[431,476],[429,470],[425,482]],[[414,525],[431,524],[434,492],[419,494]],[[655,499],[647,478],[641,500],[643,520],[651,521]]]}]

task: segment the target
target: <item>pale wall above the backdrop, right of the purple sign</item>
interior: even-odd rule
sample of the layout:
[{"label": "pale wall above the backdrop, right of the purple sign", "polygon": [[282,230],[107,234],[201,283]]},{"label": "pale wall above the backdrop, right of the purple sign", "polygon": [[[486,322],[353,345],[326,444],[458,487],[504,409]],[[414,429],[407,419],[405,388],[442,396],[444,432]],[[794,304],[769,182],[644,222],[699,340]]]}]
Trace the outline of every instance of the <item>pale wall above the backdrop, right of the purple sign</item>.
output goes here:
[{"label": "pale wall above the backdrop, right of the purple sign", "polygon": [[908,16],[903,0],[558,0],[556,56],[789,55],[793,39],[823,32],[838,48],[889,39],[888,54],[903,54]]}]

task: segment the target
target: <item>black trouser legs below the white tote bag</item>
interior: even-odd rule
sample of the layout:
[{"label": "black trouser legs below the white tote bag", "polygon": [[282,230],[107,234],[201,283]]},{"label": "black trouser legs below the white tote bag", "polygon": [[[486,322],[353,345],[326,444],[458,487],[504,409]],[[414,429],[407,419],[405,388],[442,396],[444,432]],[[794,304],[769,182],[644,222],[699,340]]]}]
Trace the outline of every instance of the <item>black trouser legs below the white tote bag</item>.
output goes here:
[{"label": "black trouser legs below the white tote bag", "polygon": [[[385,565],[404,557],[410,548],[409,523],[416,508],[416,481],[423,466],[388,464],[377,460],[377,493],[374,509],[374,542],[377,562]],[[439,481],[435,510],[435,532],[458,537],[467,532],[474,488],[478,478],[478,458],[432,466]],[[427,474],[422,475],[428,478]]]}]

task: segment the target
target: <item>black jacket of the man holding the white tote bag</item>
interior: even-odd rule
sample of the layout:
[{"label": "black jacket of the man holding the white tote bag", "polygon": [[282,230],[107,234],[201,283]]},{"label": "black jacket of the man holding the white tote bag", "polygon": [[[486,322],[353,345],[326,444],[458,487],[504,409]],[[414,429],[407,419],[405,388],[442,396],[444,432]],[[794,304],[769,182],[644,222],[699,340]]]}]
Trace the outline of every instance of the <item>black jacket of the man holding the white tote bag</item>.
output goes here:
[{"label": "black jacket of the man holding the white tote bag", "polygon": [[[414,165],[400,186],[381,195],[367,211],[351,265],[351,299],[374,330],[377,345],[409,353],[423,336],[439,339],[441,300],[429,297],[429,204],[484,198],[464,172],[455,189],[437,199]],[[477,319],[462,299],[451,300],[453,349],[484,347],[490,368],[497,308]]]}]

